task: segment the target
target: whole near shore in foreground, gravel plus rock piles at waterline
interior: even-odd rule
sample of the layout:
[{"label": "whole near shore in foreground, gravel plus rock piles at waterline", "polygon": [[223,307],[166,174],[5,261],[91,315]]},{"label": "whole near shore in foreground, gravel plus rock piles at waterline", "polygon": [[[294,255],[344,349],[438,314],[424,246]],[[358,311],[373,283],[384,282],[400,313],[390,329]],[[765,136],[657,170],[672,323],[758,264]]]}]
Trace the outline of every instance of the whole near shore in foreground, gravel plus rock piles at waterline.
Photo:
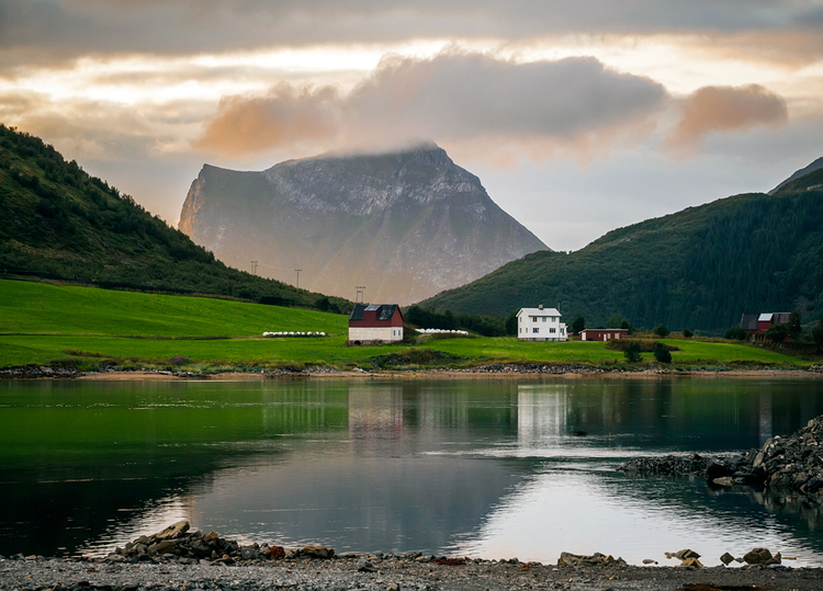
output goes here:
[{"label": "whole near shore in foreground, gravel plus rock piles at waterline", "polygon": [[[556,565],[408,554],[337,555],[309,545],[241,545],[185,521],[140,536],[102,559],[0,556],[0,589],[20,591],[481,591],[812,590],[823,569],[787,568],[764,548],[740,568],[703,568],[690,549],[666,553],[679,567],[631,566],[602,554],[562,553]],[[725,555],[724,555],[725,556]],[[729,555],[731,556],[731,555]],[[726,564],[726,560],[723,560]],[[731,562],[732,560],[728,560]],[[649,562],[654,562],[649,560]]]}]

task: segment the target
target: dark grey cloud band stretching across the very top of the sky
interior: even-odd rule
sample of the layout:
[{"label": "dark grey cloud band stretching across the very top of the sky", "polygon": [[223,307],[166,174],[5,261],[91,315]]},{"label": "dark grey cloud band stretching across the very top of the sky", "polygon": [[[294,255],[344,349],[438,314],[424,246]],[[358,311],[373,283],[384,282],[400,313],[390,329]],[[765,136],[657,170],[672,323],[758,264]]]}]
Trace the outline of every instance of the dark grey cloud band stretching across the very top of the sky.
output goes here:
[{"label": "dark grey cloud band stretching across the very top of the sky", "polygon": [[0,48],[59,48],[70,57],[422,37],[714,34],[802,29],[808,12],[791,0],[0,0]]}]

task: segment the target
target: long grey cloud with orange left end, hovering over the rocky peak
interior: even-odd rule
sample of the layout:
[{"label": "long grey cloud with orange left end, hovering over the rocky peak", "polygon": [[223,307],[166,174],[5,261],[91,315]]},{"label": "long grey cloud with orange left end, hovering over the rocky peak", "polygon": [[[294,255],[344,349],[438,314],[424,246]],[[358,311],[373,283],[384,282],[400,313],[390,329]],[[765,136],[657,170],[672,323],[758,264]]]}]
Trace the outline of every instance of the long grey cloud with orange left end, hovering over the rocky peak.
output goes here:
[{"label": "long grey cloud with orange left end, hovering over the rocky peak", "polygon": [[281,83],[264,96],[226,98],[195,146],[233,157],[435,139],[493,151],[521,145],[540,158],[552,146],[590,150],[602,140],[608,147],[644,127],[666,99],[661,84],[594,58],[517,64],[460,52],[388,56],[345,95],[332,87]]}]

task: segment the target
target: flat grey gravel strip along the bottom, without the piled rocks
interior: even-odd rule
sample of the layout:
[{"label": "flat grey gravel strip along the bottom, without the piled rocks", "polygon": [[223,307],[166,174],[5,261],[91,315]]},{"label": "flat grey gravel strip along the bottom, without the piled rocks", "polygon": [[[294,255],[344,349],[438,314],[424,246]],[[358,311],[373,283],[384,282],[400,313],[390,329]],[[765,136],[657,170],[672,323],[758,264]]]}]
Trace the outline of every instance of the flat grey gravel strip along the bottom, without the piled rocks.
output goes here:
[{"label": "flat grey gravel strip along the bottom, without the piled rocks", "polygon": [[[368,561],[374,567],[359,570]],[[408,556],[343,555],[332,559],[243,561],[226,565],[116,564],[77,559],[0,559],[0,589],[31,591],[252,591],[556,589],[819,590],[823,569],[634,567],[620,561],[557,567],[516,560],[439,560]],[[462,562],[455,565],[454,562]],[[692,586],[692,587],[689,587]],[[694,587],[699,586],[699,587]]]}]

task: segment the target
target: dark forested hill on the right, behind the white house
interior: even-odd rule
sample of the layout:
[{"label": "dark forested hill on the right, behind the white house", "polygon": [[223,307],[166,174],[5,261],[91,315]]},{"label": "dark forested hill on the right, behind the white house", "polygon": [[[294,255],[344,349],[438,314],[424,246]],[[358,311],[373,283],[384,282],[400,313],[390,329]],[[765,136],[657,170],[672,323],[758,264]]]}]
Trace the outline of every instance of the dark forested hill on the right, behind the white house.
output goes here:
[{"label": "dark forested hill on the right, behind the white house", "polygon": [[[823,312],[823,170],[775,195],[737,195],[608,232],[572,253],[537,252],[422,302],[503,316],[559,307],[566,321],[718,332],[743,312]],[[816,186],[816,189],[815,189]]]}]

